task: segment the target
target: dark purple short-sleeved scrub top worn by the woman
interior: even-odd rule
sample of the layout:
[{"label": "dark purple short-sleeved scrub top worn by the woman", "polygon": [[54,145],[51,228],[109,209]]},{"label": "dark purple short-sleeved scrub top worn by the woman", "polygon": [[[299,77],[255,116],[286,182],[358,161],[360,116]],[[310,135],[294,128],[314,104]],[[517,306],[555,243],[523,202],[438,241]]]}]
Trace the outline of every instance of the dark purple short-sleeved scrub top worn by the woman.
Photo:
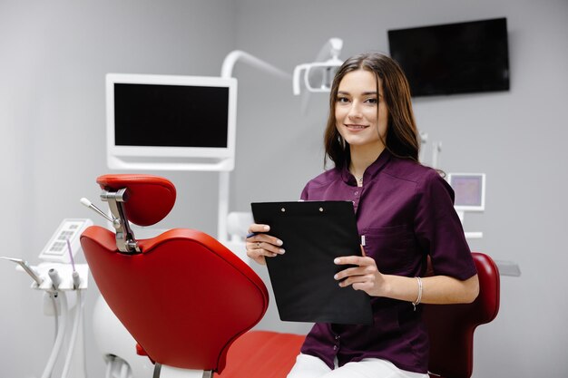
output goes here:
[{"label": "dark purple short-sleeved scrub top worn by the woman", "polygon": [[[347,168],[327,170],[308,182],[301,199],[353,201],[365,252],[383,274],[423,276],[428,255],[435,275],[465,280],[477,273],[453,206],[454,190],[436,170],[384,150],[365,171],[363,187]],[[414,311],[410,302],[385,297],[373,297],[371,303],[374,325],[318,323],[301,353],[332,369],[336,357],[339,366],[381,358],[426,373],[428,336],[421,306]]]}]

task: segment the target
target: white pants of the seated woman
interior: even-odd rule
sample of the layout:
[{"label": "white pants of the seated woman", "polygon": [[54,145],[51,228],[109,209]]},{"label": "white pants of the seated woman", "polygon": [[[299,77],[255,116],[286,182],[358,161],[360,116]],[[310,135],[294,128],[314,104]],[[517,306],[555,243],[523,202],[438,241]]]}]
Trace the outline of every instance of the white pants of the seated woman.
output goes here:
[{"label": "white pants of the seated woman", "polygon": [[428,374],[406,372],[378,358],[365,358],[332,370],[318,357],[299,354],[287,378],[428,378]]}]

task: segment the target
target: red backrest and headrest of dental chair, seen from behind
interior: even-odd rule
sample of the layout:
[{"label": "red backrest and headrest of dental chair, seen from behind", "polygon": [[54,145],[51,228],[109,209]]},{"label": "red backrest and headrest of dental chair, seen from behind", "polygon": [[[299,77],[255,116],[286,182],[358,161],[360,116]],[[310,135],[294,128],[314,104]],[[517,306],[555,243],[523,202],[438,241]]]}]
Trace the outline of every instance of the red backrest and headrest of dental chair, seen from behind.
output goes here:
[{"label": "red backrest and headrest of dental chair, seen from behind", "polygon": [[150,226],[170,212],[176,191],[169,180],[107,175],[97,183],[116,233],[87,228],[83,252],[113,313],[156,363],[154,377],[201,378],[222,371],[230,345],[266,312],[266,286],[239,257],[200,231],[176,228],[134,238],[128,221]]}]

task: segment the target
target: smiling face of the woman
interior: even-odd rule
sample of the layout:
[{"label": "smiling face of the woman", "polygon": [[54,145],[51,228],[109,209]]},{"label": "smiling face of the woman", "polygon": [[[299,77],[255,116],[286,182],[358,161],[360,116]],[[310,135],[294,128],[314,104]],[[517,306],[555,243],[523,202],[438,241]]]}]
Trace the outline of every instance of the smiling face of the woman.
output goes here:
[{"label": "smiling face of the woman", "polygon": [[339,82],[335,103],[336,127],[348,142],[351,154],[364,150],[380,153],[385,149],[383,141],[387,138],[388,110],[380,80],[378,90],[379,93],[375,74],[367,70],[347,73]]}]

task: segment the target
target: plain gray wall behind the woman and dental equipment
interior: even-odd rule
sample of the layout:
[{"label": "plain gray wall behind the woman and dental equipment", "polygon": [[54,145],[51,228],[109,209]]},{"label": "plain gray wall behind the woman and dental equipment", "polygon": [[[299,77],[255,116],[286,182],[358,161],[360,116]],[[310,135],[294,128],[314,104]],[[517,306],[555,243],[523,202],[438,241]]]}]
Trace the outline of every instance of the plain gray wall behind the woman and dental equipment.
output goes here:
[{"label": "plain gray wall behind the woman and dental equipment", "polygon": [[[98,202],[94,178],[108,172],[104,73],[217,75],[223,57],[235,48],[291,72],[296,64],[311,62],[332,36],[344,40],[341,57],[347,58],[361,51],[387,52],[390,28],[497,16],[508,20],[511,91],[416,99],[416,119],[430,141],[443,141],[443,170],[487,173],[487,209],[465,218],[467,230],[485,234],[472,241],[472,248],[514,260],[523,271],[518,278],[503,277],[501,312],[476,333],[475,376],[566,376],[561,344],[568,337],[561,276],[568,262],[563,243],[568,204],[561,191],[568,183],[561,156],[568,141],[562,113],[568,84],[565,0],[81,5],[4,0],[1,255],[36,262],[62,218],[94,217],[78,199]],[[297,199],[304,183],[322,170],[325,95],[312,95],[303,114],[290,82],[240,63],[234,74],[239,131],[231,210],[248,210],[251,200]],[[214,234],[216,175],[160,174],[178,187],[178,202],[159,226]],[[42,315],[41,294],[27,288],[27,277],[7,263],[0,264],[0,275],[2,375],[39,376],[53,340],[53,319]],[[87,313],[97,295],[91,284]],[[103,376],[92,335],[87,337],[89,373]]]}]

